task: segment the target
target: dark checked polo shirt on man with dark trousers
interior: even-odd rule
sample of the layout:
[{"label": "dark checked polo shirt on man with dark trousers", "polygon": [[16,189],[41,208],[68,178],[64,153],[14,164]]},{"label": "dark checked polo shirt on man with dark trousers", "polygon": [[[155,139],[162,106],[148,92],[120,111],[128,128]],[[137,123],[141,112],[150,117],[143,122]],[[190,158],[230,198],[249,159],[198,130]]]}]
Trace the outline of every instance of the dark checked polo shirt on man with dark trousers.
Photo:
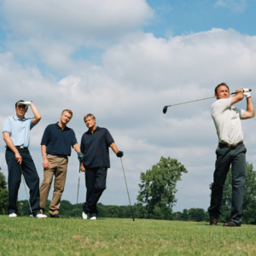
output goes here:
[{"label": "dark checked polo shirt on man with dark trousers", "polygon": [[84,167],[110,167],[108,147],[113,137],[106,128],[97,126],[93,133],[84,132],[81,138],[81,152],[84,154]]}]

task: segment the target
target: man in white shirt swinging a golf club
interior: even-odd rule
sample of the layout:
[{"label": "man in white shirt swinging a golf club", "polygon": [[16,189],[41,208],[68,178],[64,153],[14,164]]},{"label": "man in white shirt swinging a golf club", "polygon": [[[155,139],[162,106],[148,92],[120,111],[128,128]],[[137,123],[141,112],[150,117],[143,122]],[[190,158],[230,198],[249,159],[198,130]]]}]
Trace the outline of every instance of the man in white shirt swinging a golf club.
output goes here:
[{"label": "man in white shirt swinging a golf club", "polygon": [[[247,110],[232,107],[247,98]],[[224,183],[230,164],[232,165],[232,205],[230,222],[226,227],[241,226],[241,206],[246,178],[246,152],[243,144],[241,120],[254,116],[253,101],[248,89],[236,89],[236,95],[230,98],[227,84],[221,83],[215,88],[217,101],[212,104],[212,119],[218,134],[217,160],[213,174],[211,205],[208,208],[210,225],[218,224]]]}]

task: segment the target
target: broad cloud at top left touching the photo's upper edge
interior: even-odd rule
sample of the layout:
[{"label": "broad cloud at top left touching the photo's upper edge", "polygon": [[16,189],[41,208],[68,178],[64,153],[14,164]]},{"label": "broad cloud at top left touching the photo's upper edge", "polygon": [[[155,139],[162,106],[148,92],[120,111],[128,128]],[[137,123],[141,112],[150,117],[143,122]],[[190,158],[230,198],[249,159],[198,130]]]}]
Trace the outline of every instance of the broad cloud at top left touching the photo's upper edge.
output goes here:
[{"label": "broad cloud at top left touching the photo's upper edge", "polygon": [[20,38],[114,38],[153,15],[145,0],[4,0],[3,14]]}]

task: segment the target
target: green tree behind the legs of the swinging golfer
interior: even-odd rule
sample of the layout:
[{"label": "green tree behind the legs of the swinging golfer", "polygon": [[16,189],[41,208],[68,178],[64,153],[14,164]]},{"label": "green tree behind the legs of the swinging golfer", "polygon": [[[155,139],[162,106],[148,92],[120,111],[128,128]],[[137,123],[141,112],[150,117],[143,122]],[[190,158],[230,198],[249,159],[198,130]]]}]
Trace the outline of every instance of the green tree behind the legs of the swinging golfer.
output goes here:
[{"label": "green tree behind the legs of the swinging golfer", "polygon": [[[210,184],[212,189],[212,183]],[[219,222],[230,221],[230,209],[232,202],[232,172],[227,175],[224,184],[223,199],[221,203],[221,215]],[[256,220],[256,172],[253,165],[247,163],[247,176],[245,180],[245,191],[241,211],[241,221],[243,224],[255,224]]]}]

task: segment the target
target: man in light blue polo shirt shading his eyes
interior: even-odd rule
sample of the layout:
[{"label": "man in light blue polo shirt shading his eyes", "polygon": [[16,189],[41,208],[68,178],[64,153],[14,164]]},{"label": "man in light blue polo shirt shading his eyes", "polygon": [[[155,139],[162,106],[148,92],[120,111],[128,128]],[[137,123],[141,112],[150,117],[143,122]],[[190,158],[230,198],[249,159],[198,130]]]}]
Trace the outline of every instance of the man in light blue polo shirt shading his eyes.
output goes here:
[{"label": "man in light blue polo shirt shading his eyes", "polygon": [[[31,106],[34,118],[25,118]],[[14,116],[7,118],[3,125],[3,139],[6,143],[5,159],[8,166],[9,217],[17,217],[16,201],[20,188],[21,174],[30,189],[29,205],[31,217],[47,218],[39,209],[39,177],[36,166],[29,153],[30,130],[38,124],[41,115],[32,102],[15,103]],[[22,173],[20,172],[22,170]]]}]

